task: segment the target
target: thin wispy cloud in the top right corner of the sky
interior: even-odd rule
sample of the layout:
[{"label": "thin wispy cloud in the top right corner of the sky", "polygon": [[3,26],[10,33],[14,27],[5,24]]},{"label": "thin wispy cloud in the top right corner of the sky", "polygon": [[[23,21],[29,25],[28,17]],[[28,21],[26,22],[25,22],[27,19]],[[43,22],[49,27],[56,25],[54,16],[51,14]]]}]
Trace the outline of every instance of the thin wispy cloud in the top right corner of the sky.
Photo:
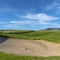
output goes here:
[{"label": "thin wispy cloud in the top right corner of the sky", "polygon": [[44,8],[44,11],[50,11],[50,10],[54,10],[56,12],[60,12],[60,1],[59,0],[54,0],[51,4],[48,4]]}]

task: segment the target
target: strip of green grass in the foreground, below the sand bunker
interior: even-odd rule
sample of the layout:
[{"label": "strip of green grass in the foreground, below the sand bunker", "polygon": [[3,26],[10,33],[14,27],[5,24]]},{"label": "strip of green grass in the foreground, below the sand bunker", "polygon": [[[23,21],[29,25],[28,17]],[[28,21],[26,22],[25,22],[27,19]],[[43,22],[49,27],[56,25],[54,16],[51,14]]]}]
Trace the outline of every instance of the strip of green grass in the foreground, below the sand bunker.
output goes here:
[{"label": "strip of green grass in the foreground, below the sand bunker", "polygon": [[60,60],[60,56],[36,57],[0,53],[0,60]]}]

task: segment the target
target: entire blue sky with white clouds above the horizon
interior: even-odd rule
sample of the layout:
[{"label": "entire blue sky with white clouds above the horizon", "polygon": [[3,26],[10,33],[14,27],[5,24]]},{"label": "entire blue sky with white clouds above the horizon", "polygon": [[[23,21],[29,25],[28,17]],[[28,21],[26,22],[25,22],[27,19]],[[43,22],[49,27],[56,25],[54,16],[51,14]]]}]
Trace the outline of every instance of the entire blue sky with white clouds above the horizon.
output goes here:
[{"label": "entire blue sky with white clouds above the horizon", "polygon": [[60,0],[0,0],[0,29],[60,28]]}]

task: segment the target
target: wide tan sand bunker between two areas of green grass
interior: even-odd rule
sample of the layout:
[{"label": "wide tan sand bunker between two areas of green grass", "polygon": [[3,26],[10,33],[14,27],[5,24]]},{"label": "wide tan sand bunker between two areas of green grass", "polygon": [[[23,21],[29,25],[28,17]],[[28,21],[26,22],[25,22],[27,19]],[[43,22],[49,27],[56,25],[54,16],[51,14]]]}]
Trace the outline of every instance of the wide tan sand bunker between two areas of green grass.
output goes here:
[{"label": "wide tan sand bunker between two areas of green grass", "polygon": [[0,51],[30,56],[60,56],[60,44],[44,40],[7,39],[0,43]]}]

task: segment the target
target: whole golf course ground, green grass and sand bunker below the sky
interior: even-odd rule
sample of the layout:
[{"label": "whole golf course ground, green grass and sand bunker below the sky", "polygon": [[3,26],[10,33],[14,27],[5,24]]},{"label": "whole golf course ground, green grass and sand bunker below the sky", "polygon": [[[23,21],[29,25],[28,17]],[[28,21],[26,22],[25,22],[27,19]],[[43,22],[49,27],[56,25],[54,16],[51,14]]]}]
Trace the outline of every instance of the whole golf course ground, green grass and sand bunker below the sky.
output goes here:
[{"label": "whole golf course ground, green grass and sand bunker below the sky", "polygon": [[60,30],[1,30],[0,60],[59,60]]}]

